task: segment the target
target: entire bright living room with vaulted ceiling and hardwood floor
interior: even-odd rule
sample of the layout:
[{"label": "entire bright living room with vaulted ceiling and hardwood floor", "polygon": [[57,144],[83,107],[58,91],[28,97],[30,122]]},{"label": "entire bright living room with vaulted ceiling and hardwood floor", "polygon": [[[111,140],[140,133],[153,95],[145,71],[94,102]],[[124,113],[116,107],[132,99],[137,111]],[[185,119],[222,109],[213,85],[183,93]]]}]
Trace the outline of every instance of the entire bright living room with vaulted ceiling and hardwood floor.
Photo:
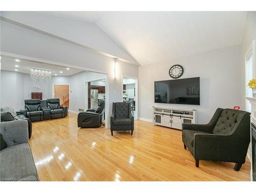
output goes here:
[{"label": "entire bright living room with vaulted ceiling and hardwood floor", "polygon": [[255,181],[256,11],[96,10],[1,10],[1,181]]}]

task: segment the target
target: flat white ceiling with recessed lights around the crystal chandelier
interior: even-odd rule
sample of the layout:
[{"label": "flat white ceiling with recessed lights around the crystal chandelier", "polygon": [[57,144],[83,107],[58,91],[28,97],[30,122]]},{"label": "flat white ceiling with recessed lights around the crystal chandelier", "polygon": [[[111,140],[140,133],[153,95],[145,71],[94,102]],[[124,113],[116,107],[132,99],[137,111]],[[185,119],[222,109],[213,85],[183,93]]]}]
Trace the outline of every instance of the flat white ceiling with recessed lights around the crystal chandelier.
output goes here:
[{"label": "flat white ceiling with recessed lights around the crystal chandelier", "polygon": [[[57,76],[70,76],[84,71],[75,68],[69,68],[69,70],[67,70],[66,67],[28,61],[23,59],[19,59],[20,61],[17,62],[15,61],[15,59],[19,58],[1,56],[1,70],[15,71],[16,69],[18,70],[17,72],[30,74],[30,69],[33,68],[51,71],[52,76],[55,76],[55,74],[57,74]],[[18,65],[18,67],[15,67],[15,65]],[[60,71],[62,71],[62,73],[60,73]]]}]

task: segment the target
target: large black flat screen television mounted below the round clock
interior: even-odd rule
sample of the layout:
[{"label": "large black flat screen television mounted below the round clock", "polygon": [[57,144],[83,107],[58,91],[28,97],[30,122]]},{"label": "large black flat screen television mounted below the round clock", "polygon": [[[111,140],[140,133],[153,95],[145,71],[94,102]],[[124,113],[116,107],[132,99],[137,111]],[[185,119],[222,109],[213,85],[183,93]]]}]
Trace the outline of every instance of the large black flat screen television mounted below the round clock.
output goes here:
[{"label": "large black flat screen television mounted below the round clock", "polygon": [[200,77],[155,81],[155,103],[200,105]]}]

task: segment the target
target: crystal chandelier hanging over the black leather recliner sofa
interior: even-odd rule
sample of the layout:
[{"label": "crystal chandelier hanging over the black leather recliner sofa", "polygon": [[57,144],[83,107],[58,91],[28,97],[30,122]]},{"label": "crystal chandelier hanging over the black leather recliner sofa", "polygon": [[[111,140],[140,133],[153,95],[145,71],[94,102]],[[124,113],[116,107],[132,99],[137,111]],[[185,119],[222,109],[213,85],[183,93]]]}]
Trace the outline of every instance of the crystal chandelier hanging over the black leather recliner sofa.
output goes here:
[{"label": "crystal chandelier hanging over the black leather recliner sofa", "polygon": [[30,69],[30,77],[33,83],[36,82],[46,82],[47,84],[50,83],[52,78],[52,72],[47,70],[41,69]]}]

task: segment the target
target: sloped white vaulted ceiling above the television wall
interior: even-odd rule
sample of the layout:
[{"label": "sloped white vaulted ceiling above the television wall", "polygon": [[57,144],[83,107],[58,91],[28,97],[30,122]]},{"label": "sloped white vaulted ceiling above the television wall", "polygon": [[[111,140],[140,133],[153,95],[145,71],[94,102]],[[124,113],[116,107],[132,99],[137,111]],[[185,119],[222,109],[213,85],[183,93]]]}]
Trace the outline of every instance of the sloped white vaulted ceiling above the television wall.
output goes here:
[{"label": "sloped white vaulted ceiling above the television wall", "polygon": [[45,12],[92,22],[140,65],[238,45],[247,12]]}]

